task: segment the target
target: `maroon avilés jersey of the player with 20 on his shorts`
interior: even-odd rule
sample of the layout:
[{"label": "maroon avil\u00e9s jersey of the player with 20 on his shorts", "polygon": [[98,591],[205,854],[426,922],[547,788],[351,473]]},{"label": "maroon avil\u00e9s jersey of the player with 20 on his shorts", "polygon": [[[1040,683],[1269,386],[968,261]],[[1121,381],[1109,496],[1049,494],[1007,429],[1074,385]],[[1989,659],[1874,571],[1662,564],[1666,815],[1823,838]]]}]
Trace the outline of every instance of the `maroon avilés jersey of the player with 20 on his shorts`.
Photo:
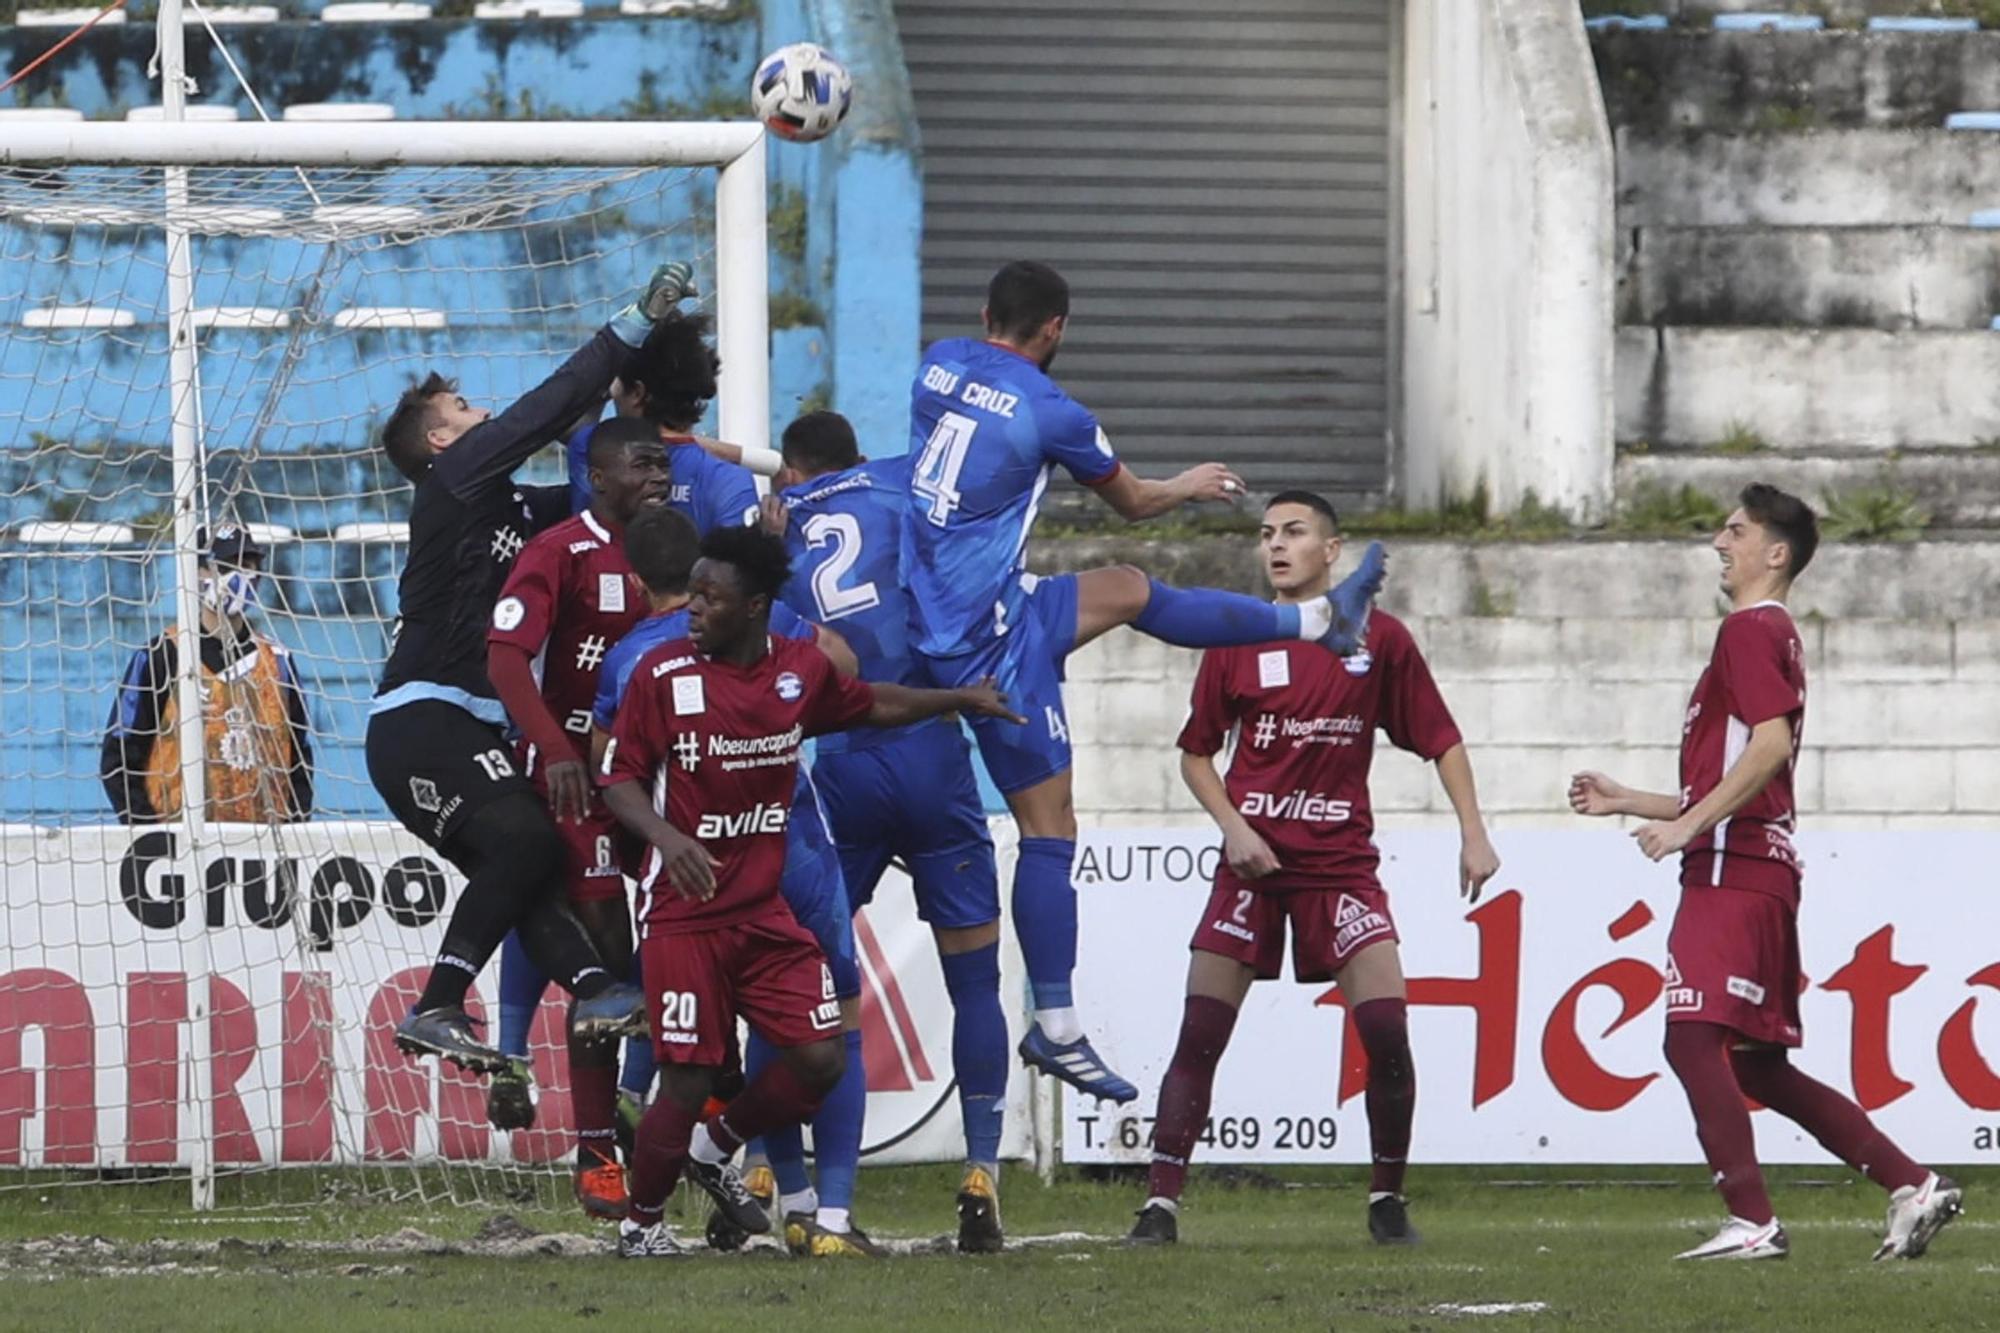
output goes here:
[{"label": "maroon avil\u00e9s jersey of the player with 20 on his shorts", "polygon": [[806,737],[868,717],[874,687],[840,677],[818,646],[770,638],[752,666],[706,658],[694,640],[664,642],[632,669],[600,785],[644,783],[652,809],[696,839],[716,867],[716,897],[684,899],[656,847],[640,873],[640,921],[712,931],[748,921],[778,897],[784,827]]}]

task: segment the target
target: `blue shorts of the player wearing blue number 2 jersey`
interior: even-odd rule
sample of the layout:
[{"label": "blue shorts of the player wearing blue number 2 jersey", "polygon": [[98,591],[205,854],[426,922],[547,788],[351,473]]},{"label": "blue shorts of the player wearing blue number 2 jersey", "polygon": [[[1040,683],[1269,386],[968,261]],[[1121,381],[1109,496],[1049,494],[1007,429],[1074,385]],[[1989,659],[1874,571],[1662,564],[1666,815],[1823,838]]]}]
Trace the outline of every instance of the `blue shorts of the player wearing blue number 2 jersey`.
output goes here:
[{"label": "blue shorts of the player wearing blue number 2 jersey", "polygon": [[962,731],[936,723],[882,745],[822,751],[814,773],[856,911],[874,901],[882,871],[900,857],[926,923],[958,929],[1000,919],[994,843]]}]

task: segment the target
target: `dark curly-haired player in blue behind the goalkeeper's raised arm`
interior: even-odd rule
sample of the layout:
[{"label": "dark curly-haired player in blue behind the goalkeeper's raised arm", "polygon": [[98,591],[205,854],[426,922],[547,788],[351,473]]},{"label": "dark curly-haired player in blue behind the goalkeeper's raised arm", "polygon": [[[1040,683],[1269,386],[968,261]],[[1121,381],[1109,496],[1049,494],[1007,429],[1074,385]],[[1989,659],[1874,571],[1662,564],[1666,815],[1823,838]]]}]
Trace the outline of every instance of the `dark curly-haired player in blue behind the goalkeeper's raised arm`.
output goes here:
[{"label": "dark curly-haired player in blue behind the goalkeeper's raised arm", "polygon": [[[748,468],[716,458],[694,438],[694,424],[716,396],[722,360],[708,346],[708,320],[674,314],[662,320],[644,346],[612,380],[618,416],[644,416],[660,426],[666,466],[674,474],[666,502],[706,536],[718,526],[750,526],[758,514],[756,478]],[[570,504],[590,504],[590,432],[578,426],[566,444],[570,464]]]}]

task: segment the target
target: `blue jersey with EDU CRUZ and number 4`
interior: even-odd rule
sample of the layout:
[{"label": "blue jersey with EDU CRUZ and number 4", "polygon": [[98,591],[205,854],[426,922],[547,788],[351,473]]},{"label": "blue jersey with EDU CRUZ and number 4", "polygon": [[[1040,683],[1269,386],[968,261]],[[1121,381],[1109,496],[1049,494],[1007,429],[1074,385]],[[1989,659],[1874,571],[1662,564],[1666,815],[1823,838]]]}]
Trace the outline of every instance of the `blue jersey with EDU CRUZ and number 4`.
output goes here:
[{"label": "blue jersey with EDU CRUZ and number 4", "polygon": [[910,458],[902,568],[928,656],[972,652],[1014,622],[1028,528],[1056,464],[1084,484],[1118,472],[1096,416],[1032,360],[980,338],[924,352]]}]

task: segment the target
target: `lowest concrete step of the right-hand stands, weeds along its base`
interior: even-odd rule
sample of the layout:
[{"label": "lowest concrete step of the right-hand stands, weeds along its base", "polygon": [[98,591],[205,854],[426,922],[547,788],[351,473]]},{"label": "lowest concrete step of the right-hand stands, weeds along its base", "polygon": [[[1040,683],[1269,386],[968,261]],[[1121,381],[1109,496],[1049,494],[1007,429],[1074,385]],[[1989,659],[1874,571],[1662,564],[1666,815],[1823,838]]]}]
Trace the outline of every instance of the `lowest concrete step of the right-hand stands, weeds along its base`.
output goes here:
[{"label": "lowest concrete step of the right-hand stands, weeds along its base", "polygon": [[1930,516],[1930,528],[2000,528],[2000,452],[1924,450],[1894,460],[1880,454],[1714,454],[1690,450],[1620,450],[1618,504],[1630,506],[1648,490],[1694,486],[1724,508],[1750,482],[1770,482],[1826,508],[1828,496],[1860,492],[1906,496]]}]

